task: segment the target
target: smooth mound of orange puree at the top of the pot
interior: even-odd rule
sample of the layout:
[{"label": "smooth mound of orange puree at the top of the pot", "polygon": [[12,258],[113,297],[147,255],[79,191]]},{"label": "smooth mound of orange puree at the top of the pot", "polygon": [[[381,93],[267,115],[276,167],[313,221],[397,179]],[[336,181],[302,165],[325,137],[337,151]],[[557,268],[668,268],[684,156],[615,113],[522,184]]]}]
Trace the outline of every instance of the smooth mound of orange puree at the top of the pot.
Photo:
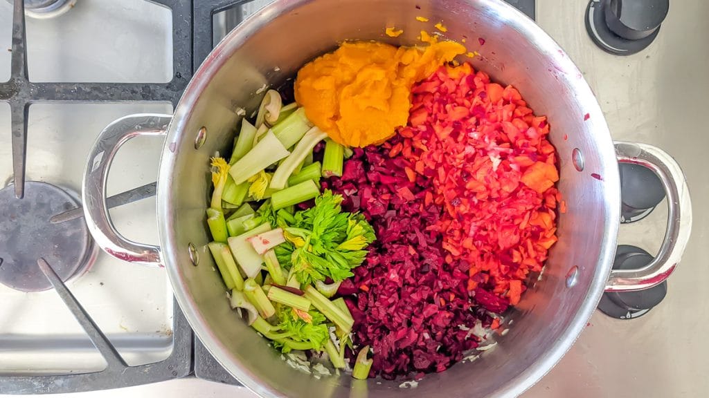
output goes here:
[{"label": "smooth mound of orange puree at the top of the pot", "polygon": [[466,52],[457,42],[426,41],[427,47],[345,42],[298,71],[296,101],[336,142],[381,144],[406,125],[413,84]]}]

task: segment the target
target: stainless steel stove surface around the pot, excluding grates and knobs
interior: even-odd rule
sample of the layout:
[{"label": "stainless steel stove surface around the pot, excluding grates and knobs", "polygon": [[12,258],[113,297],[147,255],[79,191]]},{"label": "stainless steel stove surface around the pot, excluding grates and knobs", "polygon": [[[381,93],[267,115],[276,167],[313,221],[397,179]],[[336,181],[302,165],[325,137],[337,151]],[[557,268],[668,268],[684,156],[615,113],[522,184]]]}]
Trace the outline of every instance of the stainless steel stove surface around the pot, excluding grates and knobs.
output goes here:
[{"label": "stainless steel stove surface around the pot, excluding grates and knobs", "polygon": [[[164,54],[164,46],[169,46],[170,18],[161,13],[150,14],[150,18],[140,16],[147,15],[147,8],[143,7],[152,7],[144,4],[147,3],[143,0],[122,0],[120,6],[108,0],[79,0],[76,9],[50,20],[49,27],[42,25],[47,21],[28,19],[30,79],[33,79],[33,70],[38,79],[48,80],[62,79],[62,76],[67,81],[84,79],[82,76],[98,74],[96,71],[103,72],[91,78],[169,79],[171,66],[168,62],[166,67],[164,62],[171,55]],[[709,241],[709,177],[705,171],[709,161],[703,154],[709,147],[709,135],[703,123],[705,93],[709,92],[709,74],[706,73],[709,44],[705,40],[709,37],[709,25],[705,23],[709,18],[709,3],[703,0],[672,2],[657,39],[646,50],[628,57],[609,55],[593,44],[584,26],[587,4],[587,0],[537,0],[537,23],[584,72],[615,140],[654,144],[683,166],[694,203],[694,227],[683,261],[669,278],[664,301],[643,317],[632,320],[611,319],[596,312],[569,353],[523,397],[702,397],[709,390],[709,380],[703,377],[703,371],[709,369],[709,343],[703,339],[709,334],[709,305],[700,299],[700,292],[709,285],[709,268],[705,267],[700,254],[703,244]],[[101,15],[113,15],[101,20],[101,28],[96,22],[99,20],[90,17],[90,13],[99,8],[103,10]],[[143,12],[136,13],[135,9]],[[247,7],[245,10],[251,11]],[[116,15],[120,15],[123,22],[114,18]],[[88,19],[79,21],[79,18]],[[9,21],[11,6],[0,0],[0,48],[10,46],[6,28]],[[98,38],[92,41],[96,45],[94,50],[82,48],[81,42],[69,44],[71,40],[66,39],[77,37],[75,30],[79,23],[94,26],[94,33],[102,35],[104,44],[100,44]],[[125,31],[127,26],[132,30]],[[61,34],[54,37],[50,34],[52,31]],[[142,38],[151,39],[144,42]],[[141,74],[140,69],[145,69],[145,65],[136,66],[136,62],[116,55],[115,49],[126,45],[134,49],[131,56],[135,59],[152,59],[148,64],[152,75]],[[52,46],[63,50],[52,50],[55,48]],[[0,52],[0,80],[9,76],[8,54]],[[35,63],[40,62],[40,57],[45,57],[45,62],[33,67],[33,57]],[[114,118],[138,111],[169,112],[170,106],[155,103],[32,106],[28,178],[78,190],[85,155],[96,134]],[[9,108],[4,106],[0,106],[0,128],[9,130]],[[123,158],[114,163],[112,174],[116,177],[109,186],[110,193],[149,183],[157,176],[157,155],[162,142],[136,140],[128,145],[119,152],[119,157]],[[9,135],[0,135],[0,178],[10,176],[11,171]],[[118,228],[129,237],[157,243],[154,207],[152,200],[144,200],[118,208],[112,214]],[[642,222],[623,224],[618,243],[657,253],[666,218],[663,202]],[[128,354],[127,360],[132,358],[134,363],[145,363],[169,355],[172,298],[160,270],[123,263],[101,253],[94,268],[69,287],[82,302],[88,302],[87,309],[99,326],[106,327],[109,337],[123,341],[118,348]],[[83,363],[87,370],[101,368],[101,358],[91,351],[78,324],[59,324],[71,315],[53,292],[28,296],[0,285],[0,300],[4,302],[0,307],[0,373],[23,368],[28,355],[40,358],[50,370],[72,368],[77,363]],[[48,313],[48,309],[53,314],[51,318],[38,320],[35,317]],[[56,332],[51,341],[39,336],[39,331],[45,329],[51,329],[52,334]],[[36,340],[26,343],[26,351],[19,353],[9,354],[1,349],[8,342],[18,343],[18,335],[33,336]],[[66,342],[71,349],[59,349],[38,357],[35,348],[38,344],[56,346],[57,341]],[[84,347],[79,351],[84,356],[66,355],[75,352],[75,347]],[[227,394],[254,397],[243,387],[195,378],[55,397],[221,397]]]}]

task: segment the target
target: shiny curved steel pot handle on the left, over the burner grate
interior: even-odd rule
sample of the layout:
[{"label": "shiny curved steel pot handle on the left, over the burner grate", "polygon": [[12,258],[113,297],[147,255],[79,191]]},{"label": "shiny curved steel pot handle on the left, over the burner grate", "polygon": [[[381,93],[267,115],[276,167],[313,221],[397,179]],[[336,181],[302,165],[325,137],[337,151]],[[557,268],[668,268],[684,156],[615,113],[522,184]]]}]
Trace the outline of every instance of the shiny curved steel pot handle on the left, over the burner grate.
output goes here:
[{"label": "shiny curved steel pot handle on the left, over the burner grate", "polygon": [[162,266],[160,247],[130,241],[116,231],[106,206],[106,181],[113,157],[121,145],[138,135],[167,134],[170,120],[172,115],[157,113],[139,113],[114,120],[101,132],[89,152],[82,183],[86,225],[96,244],[120,260]]}]

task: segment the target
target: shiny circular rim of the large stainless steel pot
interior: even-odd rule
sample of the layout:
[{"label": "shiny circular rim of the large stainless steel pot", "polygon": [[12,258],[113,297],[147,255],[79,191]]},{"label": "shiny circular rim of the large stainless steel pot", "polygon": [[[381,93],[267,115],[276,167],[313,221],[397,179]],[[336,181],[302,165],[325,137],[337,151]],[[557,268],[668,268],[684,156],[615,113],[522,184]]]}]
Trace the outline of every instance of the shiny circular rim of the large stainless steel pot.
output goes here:
[{"label": "shiny circular rim of the large stainless steel pot", "polygon": [[[203,317],[201,317],[198,310],[199,305],[188,294],[184,275],[182,275],[179,266],[177,266],[179,260],[177,252],[174,250],[177,247],[177,242],[173,233],[175,228],[173,217],[175,208],[171,189],[177,154],[169,150],[169,142],[177,142],[179,137],[183,135],[191,110],[211,81],[211,76],[216,74],[218,69],[227,61],[229,55],[238,49],[242,42],[274,20],[274,18],[311,1],[313,0],[275,1],[238,25],[212,50],[192,77],[175,108],[174,117],[169,125],[167,139],[163,147],[159,178],[157,180],[157,220],[160,246],[163,248],[164,266],[167,268],[177,302],[192,329],[194,329],[196,336],[199,337],[218,363],[236,377],[247,389],[261,397],[279,397],[282,394],[258,380],[255,375],[250,373],[247,367],[233,360],[225,346],[218,341]],[[549,57],[551,62],[566,71],[570,71],[569,76],[581,76],[578,67],[557,42],[542,30],[535,21],[518,11],[517,8],[502,0],[486,0],[482,7],[491,9],[491,12],[496,13],[498,16],[505,16],[504,19],[507,25],[523,33],[530,41],[530,45],[535,47],[537,51],[543,52],[545,56]],[[560,76],[559,79],[566,79],[566,77]],[[579,98],[578,101],[585,104],[585,109],[590,115],[590,120],[586,123],[593,123],[594,136],[596,140],[601,141],[599,142],[599,147],[605,147],[606,149],[601,154],[601,157],[605,157],[605,159],[601,159],[601,161],[603,164],[616,164],[617,159],[615,158],[615,149],[613,148],[610,131],[590,86],[588,86],[582,76],[578,79],[566,79],[566,81],[576,93],[576,98]],[[596,270],[583,304],[564,330],[564,338],[559,339],[552,350],[545,353],[530,368],[513,377],[506,385],[501,386],[493,394],[494,397],[516,397],[549,373],[549,370],[573,346],[601,300],[605,283],[608,280],[613,264],[618,228],[620,227],[620,174],[617,167],[608,167],[606,174],[604,174],[604,182],[603,197],[606,214],[605,229],[607,232],[603,235]]]}]

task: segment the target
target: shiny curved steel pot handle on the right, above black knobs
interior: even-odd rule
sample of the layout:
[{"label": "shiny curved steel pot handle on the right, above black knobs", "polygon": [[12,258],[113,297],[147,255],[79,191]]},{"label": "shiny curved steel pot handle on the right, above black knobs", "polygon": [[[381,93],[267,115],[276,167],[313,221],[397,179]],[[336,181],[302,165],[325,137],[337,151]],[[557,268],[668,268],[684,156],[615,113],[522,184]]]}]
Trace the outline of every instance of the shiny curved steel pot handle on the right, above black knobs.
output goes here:
[{"label": "shiny curved steel pot handle on the right, above black knobs", "polygon": [[679,164],[666,152],[648,144],[615,142],[620,163],[639,164],[659,177],[668,204],[664,241],[651,263],[638,270],[612,270],[606,292],[643,290],[669,278],[682,257],[692,229],[692,203],[686,178]]}]

